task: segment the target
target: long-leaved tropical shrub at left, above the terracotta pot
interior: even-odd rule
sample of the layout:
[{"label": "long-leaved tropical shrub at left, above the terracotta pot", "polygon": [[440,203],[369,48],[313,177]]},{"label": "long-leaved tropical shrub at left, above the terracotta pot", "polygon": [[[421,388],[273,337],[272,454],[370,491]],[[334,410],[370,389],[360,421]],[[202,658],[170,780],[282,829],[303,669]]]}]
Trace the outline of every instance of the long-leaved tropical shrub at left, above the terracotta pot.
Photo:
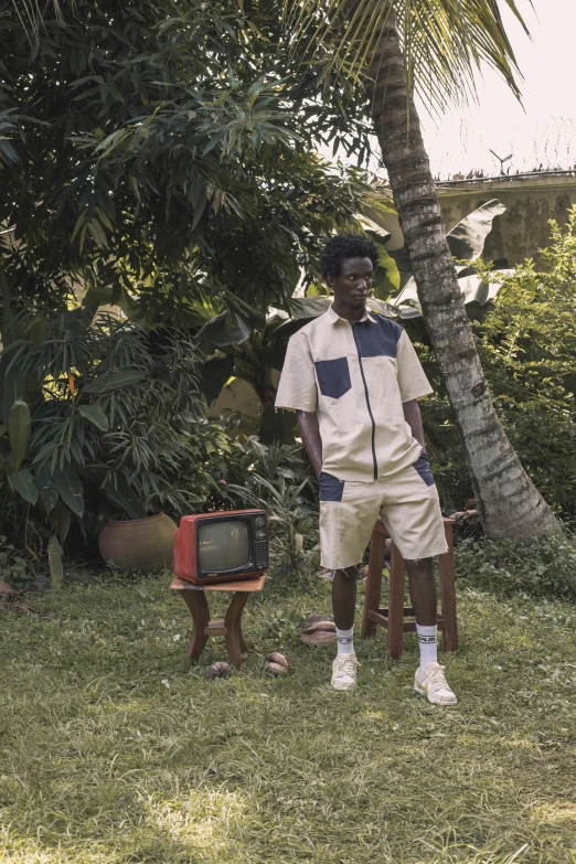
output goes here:
[{"label": "long-leaved tropical shrub at left, above the terracotta pot", "polygon": [[194,344],[95,311],[17,317],[0,363],[3,519],[34,508],[61,543],[72,519],[94,535],[113,512],[179,515],[209,493]]}]

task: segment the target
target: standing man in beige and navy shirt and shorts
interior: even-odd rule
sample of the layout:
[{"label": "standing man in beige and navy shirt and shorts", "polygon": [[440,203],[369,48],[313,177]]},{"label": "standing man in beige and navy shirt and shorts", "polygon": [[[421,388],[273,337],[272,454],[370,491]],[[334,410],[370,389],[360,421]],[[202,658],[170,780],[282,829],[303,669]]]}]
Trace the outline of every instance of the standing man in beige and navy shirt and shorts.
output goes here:
[{"label": "standing man in beige and navy shirt and shorts", "polygon": [[420,651],[414,687],[454,705],[437,660],[431,562],[447,546],[417,402],[433,391],[403,328],[366,310],[377,259],[363,237],[326,244],[320,269],[332,306],[291,337],[276,407],[296,412],[319,478],[321,563],[332,570],[338,642],[332,686],[356,683],[358,565],[381,515],[408,572]]}]

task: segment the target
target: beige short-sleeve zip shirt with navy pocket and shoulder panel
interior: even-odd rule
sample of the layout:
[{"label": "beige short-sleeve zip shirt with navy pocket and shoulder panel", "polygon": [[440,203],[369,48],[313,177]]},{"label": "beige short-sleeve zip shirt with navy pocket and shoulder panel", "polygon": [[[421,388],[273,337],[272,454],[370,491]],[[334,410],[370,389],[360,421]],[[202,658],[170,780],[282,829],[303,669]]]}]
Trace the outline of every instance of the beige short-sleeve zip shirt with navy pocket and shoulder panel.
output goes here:
[{"label": "beige short-sleeve zip shirt with navy pocket and shoulder panel", "polygon": [[316,412],[323,471],[371,481],[416,462],[402,405],[430,393],[399,324],[375,312],[351,324],[330,307],[290,338],[276,407]]}]

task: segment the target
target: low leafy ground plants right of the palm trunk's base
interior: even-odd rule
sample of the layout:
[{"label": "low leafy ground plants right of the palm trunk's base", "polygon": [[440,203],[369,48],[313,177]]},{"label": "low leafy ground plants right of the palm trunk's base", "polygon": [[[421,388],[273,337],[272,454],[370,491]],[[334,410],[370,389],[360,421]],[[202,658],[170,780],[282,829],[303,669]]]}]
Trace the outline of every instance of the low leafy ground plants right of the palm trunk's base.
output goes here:
[{"label": "low leafy ground plants right of the palm trunk's base", "polygon": [[576,602],[576,537],[467,540],[456,551],[456,575],[499,598],[526,594]]}]

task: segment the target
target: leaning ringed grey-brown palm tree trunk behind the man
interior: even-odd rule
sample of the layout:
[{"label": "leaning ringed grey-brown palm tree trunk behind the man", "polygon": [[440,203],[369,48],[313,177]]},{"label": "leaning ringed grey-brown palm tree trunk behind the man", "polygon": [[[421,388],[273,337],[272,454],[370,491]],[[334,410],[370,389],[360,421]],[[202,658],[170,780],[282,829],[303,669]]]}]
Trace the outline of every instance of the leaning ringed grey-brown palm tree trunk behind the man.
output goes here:
[{"label": "leaning ringed grey-brown palm tree trunk behind the man", "polygon": [[372,58],[370,81],[374,129],[484,531],[490,537],[553,533],[554,514],[522,468],[488,392],[392,18]]}]

